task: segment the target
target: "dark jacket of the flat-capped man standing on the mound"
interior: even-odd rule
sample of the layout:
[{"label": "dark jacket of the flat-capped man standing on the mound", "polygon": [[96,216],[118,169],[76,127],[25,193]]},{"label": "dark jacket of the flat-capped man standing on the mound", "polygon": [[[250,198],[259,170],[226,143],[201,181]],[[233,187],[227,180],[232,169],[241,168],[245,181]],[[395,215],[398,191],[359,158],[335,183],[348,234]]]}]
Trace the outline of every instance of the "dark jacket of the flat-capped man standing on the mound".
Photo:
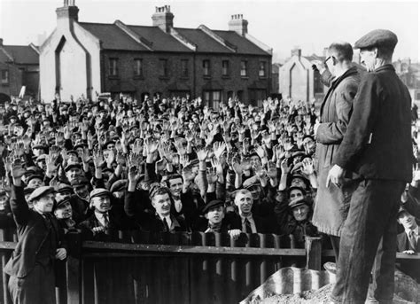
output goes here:
[{"label": "dark jacket of the flat-capped man standing on the mound", "polygon": [[366,179],[410,182],[411,97],[392,65],[363,76],[333,164]]}]

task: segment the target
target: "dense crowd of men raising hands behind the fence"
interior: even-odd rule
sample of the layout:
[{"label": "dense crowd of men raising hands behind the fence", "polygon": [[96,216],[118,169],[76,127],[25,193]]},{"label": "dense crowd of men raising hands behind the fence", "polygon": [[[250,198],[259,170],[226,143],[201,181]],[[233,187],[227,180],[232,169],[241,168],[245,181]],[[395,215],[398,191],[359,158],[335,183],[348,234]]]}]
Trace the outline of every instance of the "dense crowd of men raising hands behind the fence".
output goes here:
[{"label": "dense crowd of men raising hands behind the fence", "polygon": [[[303,247],[319,235],[314,104],[229,99],[215,110],[200,98],[116,99],[1,107],[2,228],[15,225],[9,200],[20,179],[28,207],[36,189],[53,187],[59,224],[86,239],[110,240],[111,230],[275,233]],[[415,156],[416,121],[414,110]],[[416,203],[419,180],[416,171],[403,202]]]}]

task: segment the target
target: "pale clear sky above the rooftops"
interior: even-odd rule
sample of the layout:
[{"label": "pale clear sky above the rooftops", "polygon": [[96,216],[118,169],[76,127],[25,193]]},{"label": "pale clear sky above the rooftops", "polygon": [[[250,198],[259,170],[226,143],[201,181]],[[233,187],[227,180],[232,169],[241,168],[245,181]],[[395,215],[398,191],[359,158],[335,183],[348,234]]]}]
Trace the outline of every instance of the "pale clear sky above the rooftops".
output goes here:
[{"label": "pale clear sky above the rooftops", "polygon": [[[408,1],[300,1],[300,0],[75,0],[82,22],[152,26],[155,6],[171,6],[175,27],[228,29],[230,16],[243,14],[248,33],[273,48],[273,62],[302,54],[322,55],[335,41],[354,42],[376,28],[398,35],[394,59],[418,61],[419,0]],[[0,0],[0,38],[4,44],[38,44],[38,35],[50,35],[55,10],[63,0]]]}]

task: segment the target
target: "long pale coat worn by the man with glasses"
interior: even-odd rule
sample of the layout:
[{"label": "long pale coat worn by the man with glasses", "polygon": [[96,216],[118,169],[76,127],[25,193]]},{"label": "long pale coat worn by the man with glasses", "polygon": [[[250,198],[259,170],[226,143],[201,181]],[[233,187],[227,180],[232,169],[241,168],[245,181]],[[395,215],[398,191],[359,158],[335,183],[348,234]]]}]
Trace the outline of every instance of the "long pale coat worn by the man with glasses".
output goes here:
[{"label": "long pale coat worn by the man with glasses", "polygon": [[346,133],[361,77],[355,66],[332,82],[325,78],[328,74],[323,74],[323,81],[331,86],[321,105],[321,123],[315,135],[318,191],[312,222],[320,232],[339,236],[346,220],[353,183],[347,181],[341,189],[332,183],[327,188],[325,183],[331,161]]}]

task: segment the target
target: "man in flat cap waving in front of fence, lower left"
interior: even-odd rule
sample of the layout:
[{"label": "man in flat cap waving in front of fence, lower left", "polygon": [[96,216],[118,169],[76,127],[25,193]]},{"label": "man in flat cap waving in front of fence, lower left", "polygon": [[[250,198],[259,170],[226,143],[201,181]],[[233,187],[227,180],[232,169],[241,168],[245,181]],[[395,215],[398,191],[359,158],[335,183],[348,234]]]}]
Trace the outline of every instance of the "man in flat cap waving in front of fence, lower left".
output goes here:
[{"label": "man in flat cap waving in front of fence, lower left", "polygon": [[13,303],[53,304],[55,300],[56,260],[66,259],[63,231],[51,214],[54,188],[39,187],[29,196],[29,209],[21,177],[25,173],[20,160],[12,163],[11,208],[18,230],[18,245],[4,272],[10,277]]}]

